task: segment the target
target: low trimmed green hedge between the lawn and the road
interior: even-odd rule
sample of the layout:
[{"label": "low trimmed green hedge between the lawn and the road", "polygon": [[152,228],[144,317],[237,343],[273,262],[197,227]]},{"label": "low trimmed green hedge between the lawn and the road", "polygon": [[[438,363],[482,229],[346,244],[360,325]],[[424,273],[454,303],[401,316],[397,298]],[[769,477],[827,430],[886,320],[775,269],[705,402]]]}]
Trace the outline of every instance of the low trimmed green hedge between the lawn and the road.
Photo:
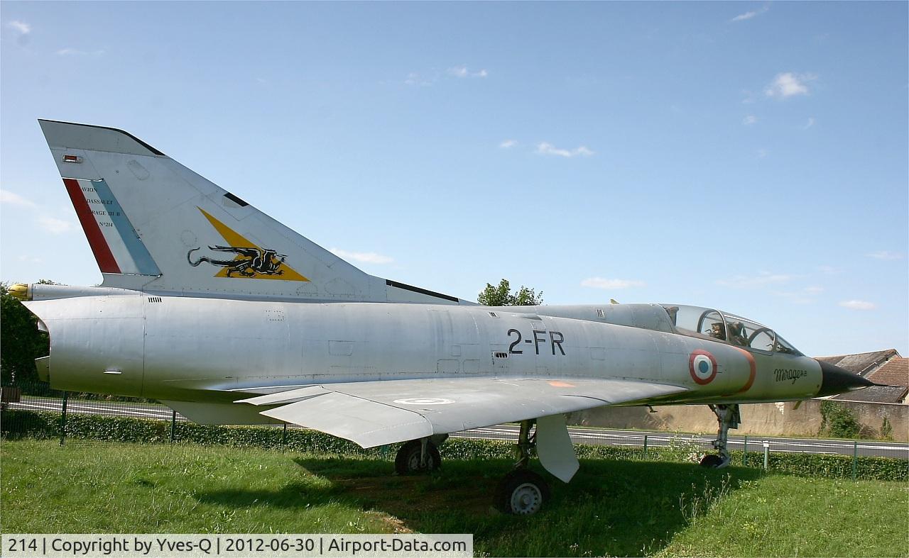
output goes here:
[{"label": "low trimmed green hedge between the lawn and the road", "polygon": [[[66,416],[65,431],[67,438],[74,439],[160,444],[170,441],[171,423],[126,416],[71,414]],[[4,411],[0,417],[0,435],[5,439],[59,438],[60,414],[45,411]],[[177,422],[174,439],[180,443],[285,449],[345,457],[360,456],[385,460],[395,457],[395,448],[390,446],[363,449],[342,438],[304,428],[288,428],[285,440],[285,431],[280,426],[204,426]],[[514,458],[514,444],[501,440],[451,438],[439,450],[447,459]],[[700,447],[683,439],[670,447],[648,448],[645,456],[642,448],[628,446],[575,444],[574,450],[580,459],[629,460],[646,457],[650,461],[685,462],[691,461],[700,451]],[[744,454],[739,451],[731,453],[733,465],[742,465]],[[764,458],[760,452],[749,452],[747,457],[747,465],[754,467],[763,465]],[[789,475],[851,478],[853,457],[772,453],[769,465],[771,471]],[[859,456],[855,459],[855,467],[856,477],[860,479],[909,480],[907,459]]]}]

